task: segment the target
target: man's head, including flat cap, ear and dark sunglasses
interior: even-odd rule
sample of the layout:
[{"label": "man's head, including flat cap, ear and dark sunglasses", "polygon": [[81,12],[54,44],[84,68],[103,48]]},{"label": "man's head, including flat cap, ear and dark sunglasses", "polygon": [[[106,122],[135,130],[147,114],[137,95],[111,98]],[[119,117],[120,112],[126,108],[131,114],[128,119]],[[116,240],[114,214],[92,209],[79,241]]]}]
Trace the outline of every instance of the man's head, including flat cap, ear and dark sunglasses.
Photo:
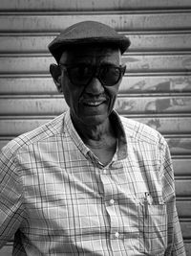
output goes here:
[{"label": "man's head, including flat cap, ear and dark sunglasses", "polygon": [[50,71],[74,123],[98,125],[108,118],[125,72],[121,54],[129,45],[127,37],[93,21],[71,26],[49,45],[58,63]]}]

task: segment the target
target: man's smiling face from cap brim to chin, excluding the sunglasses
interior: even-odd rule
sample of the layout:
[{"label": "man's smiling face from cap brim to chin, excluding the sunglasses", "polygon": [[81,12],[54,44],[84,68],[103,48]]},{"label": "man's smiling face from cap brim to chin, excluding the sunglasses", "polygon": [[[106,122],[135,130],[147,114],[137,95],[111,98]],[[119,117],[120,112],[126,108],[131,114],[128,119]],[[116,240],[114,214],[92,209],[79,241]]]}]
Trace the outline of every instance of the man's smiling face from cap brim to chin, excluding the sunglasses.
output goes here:
[{"label": "man's smiling face from cap brim to chin, excluding the sunglasses", "polygon": [[102,85],[96,77],[86,85],[75,84],[62,66],[105,64],[120,65],[120,52],[117,49],[101,47],[80,47],[67,51],[60,58],[60,85],[67,104],[71,108],[74,124],[100,125],[107,120],[113,110],[120,81],[112,86]]}]

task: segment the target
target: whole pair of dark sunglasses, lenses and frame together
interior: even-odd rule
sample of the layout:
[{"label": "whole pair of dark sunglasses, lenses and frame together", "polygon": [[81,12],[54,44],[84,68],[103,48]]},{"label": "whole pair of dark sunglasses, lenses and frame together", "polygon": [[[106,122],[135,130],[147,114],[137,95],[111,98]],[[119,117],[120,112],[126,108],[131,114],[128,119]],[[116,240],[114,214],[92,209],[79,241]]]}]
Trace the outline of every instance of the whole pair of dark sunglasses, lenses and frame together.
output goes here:
[{"label": "whole pair of dark sunglasses, lenses and frame together", "polygon": [[116,66],[113,64],[102,64],[99,66],[79,64],[65,65],[69,80],[74,85],[87,85],[93,78],[97,78],[102,85],[113,86],[122,78],[125,73],[126,66]]}]

